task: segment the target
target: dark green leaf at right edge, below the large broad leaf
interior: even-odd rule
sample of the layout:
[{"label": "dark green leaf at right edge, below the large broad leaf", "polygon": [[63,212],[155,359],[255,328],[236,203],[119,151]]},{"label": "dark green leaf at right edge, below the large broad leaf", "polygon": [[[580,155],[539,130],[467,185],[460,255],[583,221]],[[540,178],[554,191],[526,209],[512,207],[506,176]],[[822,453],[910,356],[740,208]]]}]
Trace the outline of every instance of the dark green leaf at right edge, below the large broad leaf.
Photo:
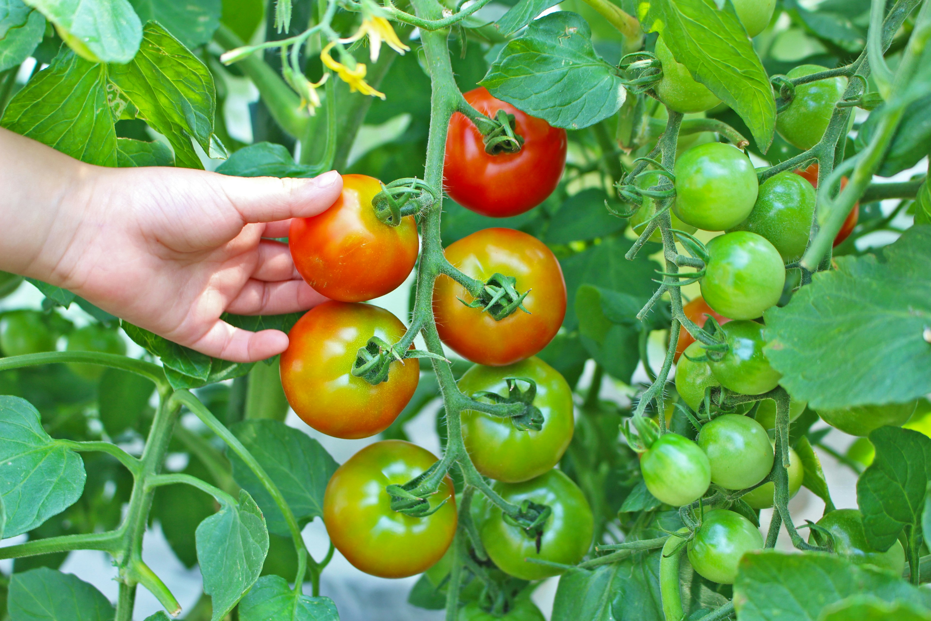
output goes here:
[{"label": "dark green leaf at right edge, below the large broad leaf", "polygon": [[873,463],[857,479],[857,505],[870,546],[887,550],[906,529],[922,532],[922,513],[931,481],[931,439],[911,429],[884,426],[870,434]]}]

